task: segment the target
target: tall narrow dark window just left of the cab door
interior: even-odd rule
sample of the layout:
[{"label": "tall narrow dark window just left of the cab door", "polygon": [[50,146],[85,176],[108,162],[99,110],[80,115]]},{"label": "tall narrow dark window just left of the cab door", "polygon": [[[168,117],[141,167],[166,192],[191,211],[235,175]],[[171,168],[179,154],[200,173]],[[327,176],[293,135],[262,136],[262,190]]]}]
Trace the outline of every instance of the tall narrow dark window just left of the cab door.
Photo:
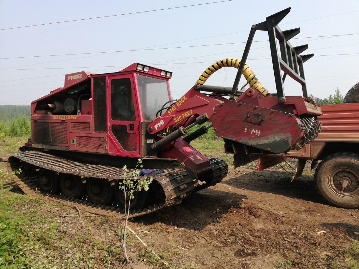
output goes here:
[{"label": "tall narrow dark window just left of the cab door", "polygon": [[93,114],[95,132],[106,132],[106,77],[93,79]]}]

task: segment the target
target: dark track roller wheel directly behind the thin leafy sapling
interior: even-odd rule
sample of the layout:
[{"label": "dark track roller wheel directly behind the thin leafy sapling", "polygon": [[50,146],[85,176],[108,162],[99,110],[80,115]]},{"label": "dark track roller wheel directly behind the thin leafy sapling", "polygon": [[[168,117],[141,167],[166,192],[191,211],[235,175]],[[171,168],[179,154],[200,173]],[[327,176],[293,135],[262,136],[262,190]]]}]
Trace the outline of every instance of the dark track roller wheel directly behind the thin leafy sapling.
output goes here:
[{"label": "dark track roller wheel directly behind the thin leafy sapling", "polygon": [[[117,186],[116,188],[117,190],[116,190],[115,198],[118,207],[120,207],[121,209],[128,210],[130,196],[126,195],[126,204],[125,204],[125,193],[120,189],[119,185],[116,186]],[[135,193],[134,197],[135,198],[132,198],[130,202],[130,211],[143,209],[146,206],[146,204],[148,204],[148,198],[149,198],[148,191],[141,190],[141,192]]]}]

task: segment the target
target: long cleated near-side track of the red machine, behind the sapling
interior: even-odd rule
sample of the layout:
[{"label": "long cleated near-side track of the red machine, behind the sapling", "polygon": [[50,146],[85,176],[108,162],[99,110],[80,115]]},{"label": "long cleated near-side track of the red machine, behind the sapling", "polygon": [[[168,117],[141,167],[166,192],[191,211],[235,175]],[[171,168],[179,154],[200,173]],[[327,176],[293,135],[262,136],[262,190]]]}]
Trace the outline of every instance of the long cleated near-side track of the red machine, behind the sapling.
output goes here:
[{"label": "long cleated near-side track of the red machine, behind the sapling", "polygon": [[[57,173],[73,174],[84,176],[86,178],[101,178],[103,180],[121,180],[123,171],[121,167],[106,166],[106,165],[93,165],[84,162],[64,159],[53,154],[41,151],[27,151],[10,156],[8,159],[8,172],[13,181],[19,188],[31,197],[38,197],[41,190],[36,185],[36,178],[28,178],[25,173],[16,174],[13,171],[21,169],[21,161],[35,165],[40,168],[55,171]],[[130,169],[127,173],[130,173]],[[148,208],[138,209],[130,213],[130,218],[142,216],[159,209],[179,204],[187,197],[194,189],[196,180],[193,179],[185,169],[166,169],[163,174],[153,176],[163,188],[165,193],[165,203],[155,204]],[[186,188],[178,190],[178,187],[186,184]],[[116,218],[125,218],[124,210],[115,206],[104,206],[95,204],[89,200],[75,199],[66,197],[60,194],[47,194],[43,193],[43,199],[47,202],[58,203],[69,207],[75,205],[82,211],[101,216],[109,216]]]}]

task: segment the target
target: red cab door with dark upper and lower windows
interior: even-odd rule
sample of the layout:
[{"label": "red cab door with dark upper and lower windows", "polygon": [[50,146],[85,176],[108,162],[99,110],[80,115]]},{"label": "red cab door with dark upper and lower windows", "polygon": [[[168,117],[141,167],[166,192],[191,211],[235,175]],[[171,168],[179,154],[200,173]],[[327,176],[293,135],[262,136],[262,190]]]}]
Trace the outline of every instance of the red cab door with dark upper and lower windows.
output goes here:
[{"label": "red cab door with dark upper and lower windows", "polygon": [[109,154],[140,157],[139,106],[133,75],[108,77]]}]

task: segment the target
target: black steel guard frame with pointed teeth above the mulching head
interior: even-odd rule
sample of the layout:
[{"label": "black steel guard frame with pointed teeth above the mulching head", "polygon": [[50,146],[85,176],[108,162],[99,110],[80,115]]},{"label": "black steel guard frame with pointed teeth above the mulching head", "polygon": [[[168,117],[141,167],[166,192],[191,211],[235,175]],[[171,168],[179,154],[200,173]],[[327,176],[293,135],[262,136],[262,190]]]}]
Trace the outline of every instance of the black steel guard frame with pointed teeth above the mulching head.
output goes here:
[{"label": "black steel guard frame with pointed teeth above the mulching head", "polygon": [[[265,22],[252,25],[241,63],[239,63],[237,76],[232,87],[231,99],[234,98],[233,96],[238,88],[239,80],[241,79],[256,30],[268,32],[278,102],[285,103],[283,82],[286,75],[289,75],[292,79],[299,82],[302,85],[303,97],[308,97],[303,63],[312,58],[314,54],[299,55],[308,48],[308,44],[293,47],[292,44],[288,42],[291,38],[299,34],[300,28],[285,31],[282,31],[279,28],[278,24],[289,12],[290,7],[267,17]],[[280,57],[277,49],[277,41],[279,42]],[[281,70],[284,72],[283,77],[281,76]]]}]

